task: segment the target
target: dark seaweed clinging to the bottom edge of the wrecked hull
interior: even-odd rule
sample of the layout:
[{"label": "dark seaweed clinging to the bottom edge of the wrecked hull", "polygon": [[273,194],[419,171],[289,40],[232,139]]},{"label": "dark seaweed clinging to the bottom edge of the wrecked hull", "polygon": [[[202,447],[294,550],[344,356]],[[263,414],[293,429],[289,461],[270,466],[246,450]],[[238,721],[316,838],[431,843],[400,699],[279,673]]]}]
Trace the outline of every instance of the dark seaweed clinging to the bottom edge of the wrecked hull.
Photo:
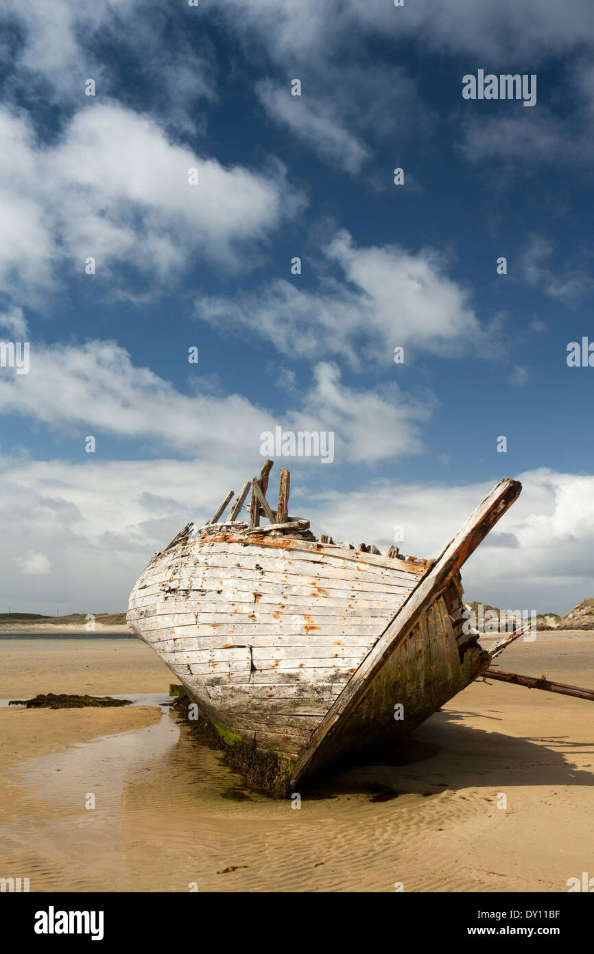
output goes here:
[{"label": "dark seaweed clinging to the bottom edge of the wrecked hull", "polygon": [[289,795],[289,770],[281,758],[259,750],[256,747],[256,737],[252,742],[239,741],[237,736],[232,742],[227,741],[222,735],[224,730],[217,730],[202,713],[197,719],[188,718],[190,702],[187,695],[178,695],[172,706],[190,726],[196,741],[221,751],[225,765],[237,772],[250,788],[279,798]]}]

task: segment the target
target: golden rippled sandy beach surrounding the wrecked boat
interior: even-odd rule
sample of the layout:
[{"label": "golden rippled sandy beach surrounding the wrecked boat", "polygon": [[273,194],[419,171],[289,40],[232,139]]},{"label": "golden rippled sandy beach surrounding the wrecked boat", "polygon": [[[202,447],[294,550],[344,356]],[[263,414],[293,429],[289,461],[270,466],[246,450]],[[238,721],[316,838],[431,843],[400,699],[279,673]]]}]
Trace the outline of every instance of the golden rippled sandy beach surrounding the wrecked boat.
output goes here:
[{"label": "golden rippled sandy beach surrounding the wrecked boat", "polygon": [[[594,633],[519,640],[500,665],[593,687]],[[0,641],[0,674],[17,698],[164,699],[174,681],[142,643],[96,637]],[[475,683],[384,764],[303,786],[298,810],[246,791],[158,698],[139,701],[0,709],[0,875],[31,891],[559,892],[594,866],[585,700]]]}]

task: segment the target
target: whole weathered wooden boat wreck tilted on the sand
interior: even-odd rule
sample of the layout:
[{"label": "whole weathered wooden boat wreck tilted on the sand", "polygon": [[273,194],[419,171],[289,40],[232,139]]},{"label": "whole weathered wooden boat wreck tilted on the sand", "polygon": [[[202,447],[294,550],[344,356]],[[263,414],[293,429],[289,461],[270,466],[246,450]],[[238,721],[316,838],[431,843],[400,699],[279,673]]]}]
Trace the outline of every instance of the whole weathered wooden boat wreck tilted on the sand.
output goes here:
[{"label": "whole weathered wooden boat wreck tilted on the sand", "polygon": [[394,744],[518,637],[481,648],[465,626],[460,570],[522,486],[503,480],[438,559],[423,560],[316,537],[289,513],[286,468],[277,506],[268,504],[272,466],[243,484],[229,519],[231,493],[208,524],[188,524],[154,555],[128,622],[231,764],[258,787],[291,792],[326,766]]}]

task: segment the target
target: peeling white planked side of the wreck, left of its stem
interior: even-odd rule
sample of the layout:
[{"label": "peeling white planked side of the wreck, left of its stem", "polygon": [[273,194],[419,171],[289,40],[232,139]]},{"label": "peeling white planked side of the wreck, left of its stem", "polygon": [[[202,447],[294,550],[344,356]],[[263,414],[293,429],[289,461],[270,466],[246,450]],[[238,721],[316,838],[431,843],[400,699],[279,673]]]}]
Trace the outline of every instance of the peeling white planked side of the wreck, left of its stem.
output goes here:
[{"label": "peeling white planked side of the wreck, left of its stem", "polygon": [[205,528],[154,557],[128,620],[219,728],[295,758],[426,567]]}]

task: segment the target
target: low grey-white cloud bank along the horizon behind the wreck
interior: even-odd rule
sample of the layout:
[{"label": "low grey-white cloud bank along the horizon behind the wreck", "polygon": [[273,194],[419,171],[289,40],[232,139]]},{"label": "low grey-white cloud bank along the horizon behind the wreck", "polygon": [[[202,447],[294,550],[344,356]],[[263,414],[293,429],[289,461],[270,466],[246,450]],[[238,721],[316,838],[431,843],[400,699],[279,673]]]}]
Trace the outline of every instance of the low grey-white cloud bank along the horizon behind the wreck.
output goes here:
[{"label": "low grey-white cloud bank along the horizon behind the wreck", "polygon": [[[0,597],[23,612],[107,612],[124,609],[129,592],[154,550],[162,550],[189,520],[202,523],[228,489],[238,490],[257,467],[250,461],[96,459],[81,464],[0,458],[0,518],[7,552],[25,557],[34,541],[51,570],[31,584],[17,565],[7,567]],[[358,545],[389,547],[395,525],[404,529],[404,553],[440,553],[496,479],[468,486],[371,481],[357,490],[326,488],[289,466],[297,512],[316,534]],[[345,476],[346,471],[341,470]],[[276,474],[276,477],[274,476]],[[468,599],[507,609],[567,612],[594,596],[594,477],[549,469],[520,475],[520,499],[462,570]],[[497,544],[494,546],[493,544]],[[26,558],[26,557],[25,557]]]}]

